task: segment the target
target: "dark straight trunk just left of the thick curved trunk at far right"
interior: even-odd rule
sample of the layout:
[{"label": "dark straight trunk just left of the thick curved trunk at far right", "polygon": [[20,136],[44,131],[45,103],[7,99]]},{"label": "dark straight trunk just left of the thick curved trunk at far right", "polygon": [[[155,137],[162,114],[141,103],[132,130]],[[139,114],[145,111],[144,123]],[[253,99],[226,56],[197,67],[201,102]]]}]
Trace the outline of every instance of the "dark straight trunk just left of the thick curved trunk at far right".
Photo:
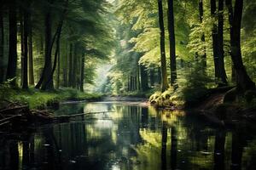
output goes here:
[{"label": "dark straight trunk just left of the thick curved trunk at far right", "polygon": [[221,82],[227,84],[227,75],[224,68],[224,0],[218,0],[218,69]]}]

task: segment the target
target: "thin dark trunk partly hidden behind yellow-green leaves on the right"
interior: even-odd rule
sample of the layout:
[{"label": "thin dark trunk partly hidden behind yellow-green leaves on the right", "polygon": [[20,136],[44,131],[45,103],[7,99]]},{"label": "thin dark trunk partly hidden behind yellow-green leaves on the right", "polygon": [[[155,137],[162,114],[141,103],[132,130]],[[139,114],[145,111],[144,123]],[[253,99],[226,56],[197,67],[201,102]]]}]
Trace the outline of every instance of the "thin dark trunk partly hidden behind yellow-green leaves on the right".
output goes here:
[{"label": "thin dark trunk partly hidden behind yellow-green leaves on the right", "polygon": [[[199,0],[199,20],[200,20],[200,23],[203,22],[203,17],[204,17],[203,0]],[[201,41],[203,43],[206,42],[206,37],[205,37],[204,32],[201,35]],[[207,49],[206,49],[206,47],[204,47],[204,54],[202,54],[201,58],[202,58],[203,69],[206,69],[206,67],[207,67]]]}]

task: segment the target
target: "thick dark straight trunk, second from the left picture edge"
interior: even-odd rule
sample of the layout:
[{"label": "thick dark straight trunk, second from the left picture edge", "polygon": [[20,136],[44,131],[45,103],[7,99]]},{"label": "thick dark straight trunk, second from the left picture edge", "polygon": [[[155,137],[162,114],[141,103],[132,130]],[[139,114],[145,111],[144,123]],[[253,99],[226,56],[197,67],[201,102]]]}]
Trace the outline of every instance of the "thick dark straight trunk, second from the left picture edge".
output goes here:
[{"label": "thick dark straight trunk, second from the left picture edge", "polygon": [[[17,69],[17,18],[16,18],[16,0],[9,2],[9,59],[6,78],[16,77]],[[16,80],[12,82],[16,84]]]}]

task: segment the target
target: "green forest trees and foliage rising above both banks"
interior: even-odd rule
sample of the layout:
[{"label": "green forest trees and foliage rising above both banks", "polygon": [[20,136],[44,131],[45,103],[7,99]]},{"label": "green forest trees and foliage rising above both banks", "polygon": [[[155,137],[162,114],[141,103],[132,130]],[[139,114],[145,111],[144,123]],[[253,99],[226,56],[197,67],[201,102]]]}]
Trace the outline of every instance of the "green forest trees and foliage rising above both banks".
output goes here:
[{"label": "green forest trees and foliage rising above both banks", "polygon": [[255,6],[249,0],[5,0],[0,82],[80,91],[92,84],[103,94],[235,85],[245,93],[255,88]]}]

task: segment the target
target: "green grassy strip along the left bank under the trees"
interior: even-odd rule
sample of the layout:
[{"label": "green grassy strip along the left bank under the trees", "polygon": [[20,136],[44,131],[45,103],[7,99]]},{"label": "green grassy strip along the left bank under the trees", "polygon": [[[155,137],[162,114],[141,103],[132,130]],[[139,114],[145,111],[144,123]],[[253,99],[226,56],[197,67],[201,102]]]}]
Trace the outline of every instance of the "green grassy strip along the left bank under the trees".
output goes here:
[{"label": "green grassy strip along the left bank under the trees", "polygon": [[[1,99],[8,99],[22,105],[29,105],[31,109],[45,108],[51,104],[64,100],[95,101],[102,98],[101,94],[87,94],[72,88],[61,88],[55,91],[41,91],[35,88],[22,90],[20,88],[0,87]],[[0,100],[1,100],[0,99]]]}]

